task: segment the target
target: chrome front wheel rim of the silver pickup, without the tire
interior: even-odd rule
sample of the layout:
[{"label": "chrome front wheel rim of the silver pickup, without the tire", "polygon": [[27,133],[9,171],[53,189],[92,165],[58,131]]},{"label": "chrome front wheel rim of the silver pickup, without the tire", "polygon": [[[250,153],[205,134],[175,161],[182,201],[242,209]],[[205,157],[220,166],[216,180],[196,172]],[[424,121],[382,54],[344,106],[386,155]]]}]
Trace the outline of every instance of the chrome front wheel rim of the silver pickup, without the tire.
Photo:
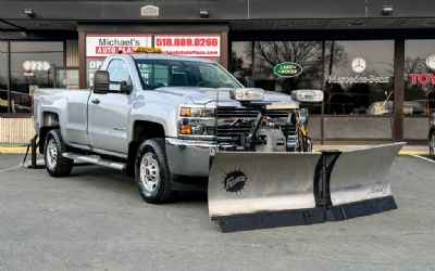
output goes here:
[{"label": "chrome front wheel rim of the silver pickup, without the tire", "polygon": [[140,160],[140,183],[149,193],[153,193],[160,183],[159,163],[152,153],[146,153]]}]

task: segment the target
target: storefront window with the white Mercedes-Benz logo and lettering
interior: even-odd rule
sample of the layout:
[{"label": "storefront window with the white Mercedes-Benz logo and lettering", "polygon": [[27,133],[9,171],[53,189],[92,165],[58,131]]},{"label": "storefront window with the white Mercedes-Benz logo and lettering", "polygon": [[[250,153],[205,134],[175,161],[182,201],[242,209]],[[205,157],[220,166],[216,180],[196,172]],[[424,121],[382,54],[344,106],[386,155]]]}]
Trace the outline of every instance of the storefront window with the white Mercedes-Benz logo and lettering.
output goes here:
[{"label": "storefront window with the white Mercedes-Benz logo and lettering", "polygon": [[328,41],[325,48],[325,114],[394,114],[393,40]]}]

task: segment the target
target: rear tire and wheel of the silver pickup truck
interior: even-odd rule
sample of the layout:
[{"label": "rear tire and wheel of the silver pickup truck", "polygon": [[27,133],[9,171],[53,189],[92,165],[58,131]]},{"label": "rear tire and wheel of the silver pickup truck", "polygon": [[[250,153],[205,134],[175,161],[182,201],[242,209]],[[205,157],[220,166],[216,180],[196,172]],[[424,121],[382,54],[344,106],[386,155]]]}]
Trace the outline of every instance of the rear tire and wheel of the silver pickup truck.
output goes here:
[{"label": "rear tire and wheel of the silver pickup truck", "polygon": [[50,130],[46,136],[44,150],[44,160],[46,169],[52,177],[65,177],[71,173],[74,160],[65,158],[62,154],[65,152],[61,131],[59,129]]}]

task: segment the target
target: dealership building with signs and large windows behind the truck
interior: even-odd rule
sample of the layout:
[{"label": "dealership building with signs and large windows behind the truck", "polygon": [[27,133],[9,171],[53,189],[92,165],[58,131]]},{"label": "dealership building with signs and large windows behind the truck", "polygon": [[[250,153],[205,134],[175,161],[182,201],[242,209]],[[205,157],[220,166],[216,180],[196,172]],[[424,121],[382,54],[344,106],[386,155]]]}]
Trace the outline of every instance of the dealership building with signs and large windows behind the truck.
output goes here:
[{"label": "dealership building with signs and large windows behind the truck", "polygon": [[[265,90],[323,90],[319,143],[421,143],[435,114],[435,1],[0,0],[0,143],[32,138],[36,89],[89,88],[105,56],[138,46]],[[287,62],[300,73],[274,73]]]}]

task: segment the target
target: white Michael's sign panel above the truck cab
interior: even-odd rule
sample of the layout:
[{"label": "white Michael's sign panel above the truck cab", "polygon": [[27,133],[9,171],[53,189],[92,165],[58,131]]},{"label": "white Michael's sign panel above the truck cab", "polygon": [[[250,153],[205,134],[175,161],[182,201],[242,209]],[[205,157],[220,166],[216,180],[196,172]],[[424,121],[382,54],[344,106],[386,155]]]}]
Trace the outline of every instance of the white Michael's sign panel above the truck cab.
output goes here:
[{"label": "white Michael's sign panel above the truck cab", "polygon": [[86,57],[133,53],[135,47],[151,47],[151,43],[149,35],[87,35]]}]

